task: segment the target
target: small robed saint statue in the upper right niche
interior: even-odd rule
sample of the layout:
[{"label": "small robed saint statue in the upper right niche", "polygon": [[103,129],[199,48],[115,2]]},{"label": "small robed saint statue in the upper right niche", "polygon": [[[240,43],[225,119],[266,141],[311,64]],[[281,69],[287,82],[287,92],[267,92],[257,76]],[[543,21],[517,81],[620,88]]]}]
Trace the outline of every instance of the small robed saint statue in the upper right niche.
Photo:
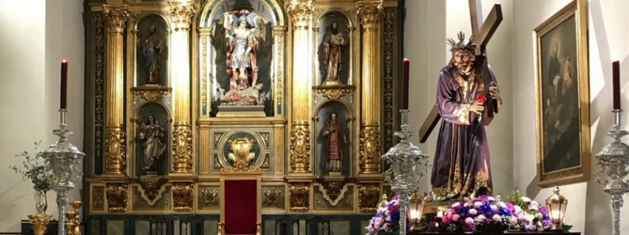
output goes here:
[{"label": "small robed saint statue in the upper right niche", "polygon": [[338,31],[338,22],[332,22],[323,41],[326,51],[326,79],[324,84],[339,84],[338,72],[342,65],[342,47],[347,44],[345,34]]}]

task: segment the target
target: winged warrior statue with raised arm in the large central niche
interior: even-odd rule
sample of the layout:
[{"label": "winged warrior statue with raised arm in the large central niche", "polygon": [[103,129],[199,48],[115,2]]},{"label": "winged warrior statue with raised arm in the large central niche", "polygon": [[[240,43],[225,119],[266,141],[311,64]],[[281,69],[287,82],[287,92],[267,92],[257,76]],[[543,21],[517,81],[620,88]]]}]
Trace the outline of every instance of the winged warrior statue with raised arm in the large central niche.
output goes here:
[{"label": "winged warrior statue with raised arm in the large central niche", "polygon": [[229,91],[219,90],[221,100],[233,105],[261,105],[265,95],[261,92],[263,86],[257,83],[256,58],[259,45],[266,40],[266,22],[249,10],[230,11],[223,17],[224,37],[229,45],[226,53]]}]

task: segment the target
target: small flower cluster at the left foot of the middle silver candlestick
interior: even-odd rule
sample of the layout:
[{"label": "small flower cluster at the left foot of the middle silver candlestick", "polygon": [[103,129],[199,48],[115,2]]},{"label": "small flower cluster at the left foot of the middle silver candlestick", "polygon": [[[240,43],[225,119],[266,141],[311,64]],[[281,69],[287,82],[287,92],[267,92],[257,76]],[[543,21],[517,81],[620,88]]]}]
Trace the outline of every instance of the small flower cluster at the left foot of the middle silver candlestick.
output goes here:
[{"label": "small flower cluster at the left foot of the middle silver candlestick", "polygon": [[[411,222],[407,217],[407,229],[410,229],[410,227]],[[398,203],[398,196],[391,198],[391,201],[378,208],[377,213],[369,221],[366,229],[368,235],[382,235],[399,231],[400,204]]]}]

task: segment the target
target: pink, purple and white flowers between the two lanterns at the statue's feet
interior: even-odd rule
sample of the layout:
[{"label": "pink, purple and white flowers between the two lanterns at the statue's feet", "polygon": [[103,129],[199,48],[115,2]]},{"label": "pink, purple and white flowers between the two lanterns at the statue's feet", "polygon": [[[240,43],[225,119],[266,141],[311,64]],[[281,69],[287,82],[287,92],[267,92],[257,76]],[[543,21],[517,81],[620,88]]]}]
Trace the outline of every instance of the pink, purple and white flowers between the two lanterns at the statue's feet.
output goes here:
[{"label": "pink, purple and white flowers between the two lanterns at the statue's feet", "polygon": [[[500,197],[479,196],[468,201],[452,204],[440,211],[435,220],[428,223],[429,231],[476,232],[486,229],[542,232],[552,227],[546,206],[522,197],[520,192],[511,194],[509,201]],[[564,231],[571,226],[564,226]]]}]

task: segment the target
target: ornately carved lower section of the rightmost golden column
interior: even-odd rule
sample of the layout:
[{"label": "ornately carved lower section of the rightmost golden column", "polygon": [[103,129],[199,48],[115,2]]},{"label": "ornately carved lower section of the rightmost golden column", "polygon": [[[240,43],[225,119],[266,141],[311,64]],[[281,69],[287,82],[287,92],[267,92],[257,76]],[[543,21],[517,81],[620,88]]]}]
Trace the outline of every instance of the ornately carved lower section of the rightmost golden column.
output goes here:
[{"label": "ornately carved lower section of the rightmost golden column", "polygon": [[380,173],[380,130],[378,125],[361,126],[361,173]]}]

